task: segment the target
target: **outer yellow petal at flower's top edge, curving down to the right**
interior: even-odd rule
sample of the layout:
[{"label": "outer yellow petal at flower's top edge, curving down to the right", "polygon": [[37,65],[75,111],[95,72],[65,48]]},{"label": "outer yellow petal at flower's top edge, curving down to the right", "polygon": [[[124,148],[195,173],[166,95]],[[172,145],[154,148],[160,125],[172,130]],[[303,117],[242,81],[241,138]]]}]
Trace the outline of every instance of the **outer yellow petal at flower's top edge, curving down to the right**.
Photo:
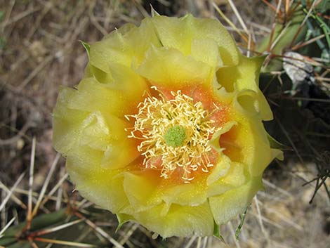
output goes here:
[{"label": "outer yellow petal at flower's top edge, curving down to the right", "polygon": [[218,20],[185,15],[183,18],[156,16],[152,18],[152,22],[161,44],[165,47],[176,48],[188,55],[194,39],[212,39],[218,45],[224,65],[238,63],[235,41]]}]

